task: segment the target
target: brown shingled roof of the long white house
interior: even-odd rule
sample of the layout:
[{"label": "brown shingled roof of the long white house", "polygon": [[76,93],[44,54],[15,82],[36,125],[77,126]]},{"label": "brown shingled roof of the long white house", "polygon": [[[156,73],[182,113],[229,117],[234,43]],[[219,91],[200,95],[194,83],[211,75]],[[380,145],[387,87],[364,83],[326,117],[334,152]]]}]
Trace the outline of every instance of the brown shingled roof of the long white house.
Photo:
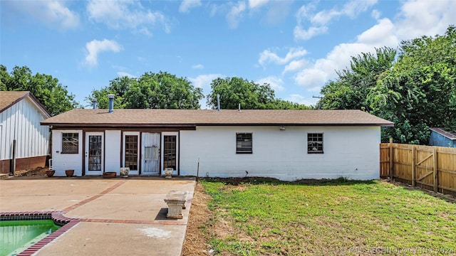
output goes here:
[{"label": "brown shingled roof of the long white house", "polygon": [[167,127],[209,125],[393,126],[361,110],[81,110],[43,120],[65,127]]}]

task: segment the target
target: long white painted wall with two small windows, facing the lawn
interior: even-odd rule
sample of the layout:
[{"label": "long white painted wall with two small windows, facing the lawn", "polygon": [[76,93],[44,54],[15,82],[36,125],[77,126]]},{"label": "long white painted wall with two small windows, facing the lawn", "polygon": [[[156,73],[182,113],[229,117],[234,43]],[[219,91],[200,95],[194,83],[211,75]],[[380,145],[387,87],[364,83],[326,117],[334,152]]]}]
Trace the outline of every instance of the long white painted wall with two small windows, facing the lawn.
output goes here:
[{"label": "long white painted wall with two small windows, facing the lawn", "polygon": [[[236,133],[252,132],[253,154],[236,154]],[[307,153],[307,133],[323,133],[323,154]],[[380,127],[197,127],[180,132],[180,175],[357,180],[379,178]]]}]

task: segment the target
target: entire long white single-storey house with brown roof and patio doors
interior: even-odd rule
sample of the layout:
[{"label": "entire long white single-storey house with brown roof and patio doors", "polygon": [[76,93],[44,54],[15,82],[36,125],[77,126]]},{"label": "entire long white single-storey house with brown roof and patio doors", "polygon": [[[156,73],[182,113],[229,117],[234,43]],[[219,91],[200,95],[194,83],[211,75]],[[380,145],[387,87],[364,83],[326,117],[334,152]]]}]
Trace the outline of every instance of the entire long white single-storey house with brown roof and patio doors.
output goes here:
[{"label": "entire long white single-storey house with brown roof and patio doors", "polygon": [[360,110],[71,110],[52,127],[53,169],[65,176],[379,178],[380,127]]}]

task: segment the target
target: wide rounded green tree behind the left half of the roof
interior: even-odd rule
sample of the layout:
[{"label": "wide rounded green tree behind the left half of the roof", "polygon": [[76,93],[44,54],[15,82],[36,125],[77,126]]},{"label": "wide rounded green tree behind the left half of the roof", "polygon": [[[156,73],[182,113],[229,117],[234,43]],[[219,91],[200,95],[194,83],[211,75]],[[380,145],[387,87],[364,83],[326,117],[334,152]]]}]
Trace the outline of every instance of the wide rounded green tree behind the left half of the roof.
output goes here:
[{"label": "wide rounded green tree behind the left half of the roof", "polygon": [[145,73],[140,78],[115,78],[108,87],[93,90],[86,98],[98,100],[100,108],[108,108],[108,94],[115,95],[116,108],[133,109],[199,109],[202,89],[186,78],[170,73]]}]

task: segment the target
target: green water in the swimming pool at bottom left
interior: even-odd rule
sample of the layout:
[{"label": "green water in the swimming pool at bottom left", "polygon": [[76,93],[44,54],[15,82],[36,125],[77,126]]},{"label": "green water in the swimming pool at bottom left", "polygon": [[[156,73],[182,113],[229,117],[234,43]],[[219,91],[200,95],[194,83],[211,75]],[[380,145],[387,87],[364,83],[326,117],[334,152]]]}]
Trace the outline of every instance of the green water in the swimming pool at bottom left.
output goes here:
[{"label": "green water in the swimming pool at bottom left", "polygon": [[2,220],[0,256],[17,255],[58,228],[53,220]]}]

